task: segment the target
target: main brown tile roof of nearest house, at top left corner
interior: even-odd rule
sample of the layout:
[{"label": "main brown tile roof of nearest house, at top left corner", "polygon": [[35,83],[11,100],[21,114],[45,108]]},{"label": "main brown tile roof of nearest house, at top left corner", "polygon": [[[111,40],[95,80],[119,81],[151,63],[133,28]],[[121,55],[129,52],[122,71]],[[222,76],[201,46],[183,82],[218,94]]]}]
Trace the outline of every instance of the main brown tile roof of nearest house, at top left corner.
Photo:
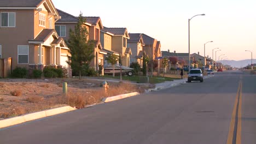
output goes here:
[{"label": "main brown tile roof of nearest house, at top left corner", "polygon": [[37,7],[43,0],[1,0],[0,7]]}]

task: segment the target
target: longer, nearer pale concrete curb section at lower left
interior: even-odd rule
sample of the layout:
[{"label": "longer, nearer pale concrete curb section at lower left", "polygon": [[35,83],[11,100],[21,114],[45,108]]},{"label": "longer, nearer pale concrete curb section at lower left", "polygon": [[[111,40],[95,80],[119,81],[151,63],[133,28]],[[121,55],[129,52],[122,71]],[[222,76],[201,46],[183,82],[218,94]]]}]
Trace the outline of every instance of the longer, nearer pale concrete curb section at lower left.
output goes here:
[{"label": "longer, nearer pale concrete curb section at lower left", "polygon": [[73,110],[76,110],[76,109],[71,106],[63,106],[56,109],[39,111],[39,112],[29,113],[26,115],[21,115],[13,118],[7,118],[0,121],[0,128],[9,127],[11,125],[32,121],[38,118],[49,117],[49,116],[57,115],[59,113],[73,111]]}]

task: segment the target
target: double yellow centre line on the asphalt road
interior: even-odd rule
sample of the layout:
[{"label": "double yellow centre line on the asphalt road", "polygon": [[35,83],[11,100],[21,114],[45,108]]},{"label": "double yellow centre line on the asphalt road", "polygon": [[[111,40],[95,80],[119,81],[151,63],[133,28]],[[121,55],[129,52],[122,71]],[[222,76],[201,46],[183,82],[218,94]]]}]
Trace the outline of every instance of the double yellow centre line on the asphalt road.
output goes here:
[{"label": "double yellow centre line on the asphalt road", "polygon": [[241,144],[241,129],[242,129],[242,81],[238,84],[238,89],[236,93],[236,99],[234,104],[234,109],[232,111],[231,122],[229,125],[229,134],[226,144]]}]

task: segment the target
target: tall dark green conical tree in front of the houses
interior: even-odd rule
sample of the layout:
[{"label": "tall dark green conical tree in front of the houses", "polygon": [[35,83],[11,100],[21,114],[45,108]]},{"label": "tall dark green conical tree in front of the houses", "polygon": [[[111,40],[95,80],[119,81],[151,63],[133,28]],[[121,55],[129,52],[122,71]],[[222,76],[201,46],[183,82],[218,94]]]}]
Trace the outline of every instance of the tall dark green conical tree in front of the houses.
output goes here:
[{"label": "tall dark green conical tree in front of the houses", "polygon": [[89,63],[94,58],[94,40],[88,40],[88,31],[84,26],[86,22],[83,14],[80,13],[78,23],[75,25],[74,31],[69,30],[69,39],[67,45],[69,48],[68,64],[71,65],[74,73],[79,73],[81,79],[81,70],[89,68]]}]

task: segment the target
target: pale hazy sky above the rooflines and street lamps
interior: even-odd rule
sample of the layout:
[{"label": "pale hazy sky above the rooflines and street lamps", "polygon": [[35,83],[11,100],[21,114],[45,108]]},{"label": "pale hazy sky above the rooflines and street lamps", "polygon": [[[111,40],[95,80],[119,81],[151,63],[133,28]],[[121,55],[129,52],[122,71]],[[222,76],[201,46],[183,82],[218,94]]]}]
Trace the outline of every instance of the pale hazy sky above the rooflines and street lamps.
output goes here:
[{"label": "pale hazy sky above the rooflines and street lamps", "polygon": [[[206,44],[206,56],[219,47],[229,60],[256,58],[255,0],[52,0],[55,7],[78,16],[100,16],[103,26],[126,27],[129,33],[145,33],[161,41],[161,50],[200,52]],[[215,58],[215,52],[214,52]],[[223,58],[224,59],[224,58]]]}]

